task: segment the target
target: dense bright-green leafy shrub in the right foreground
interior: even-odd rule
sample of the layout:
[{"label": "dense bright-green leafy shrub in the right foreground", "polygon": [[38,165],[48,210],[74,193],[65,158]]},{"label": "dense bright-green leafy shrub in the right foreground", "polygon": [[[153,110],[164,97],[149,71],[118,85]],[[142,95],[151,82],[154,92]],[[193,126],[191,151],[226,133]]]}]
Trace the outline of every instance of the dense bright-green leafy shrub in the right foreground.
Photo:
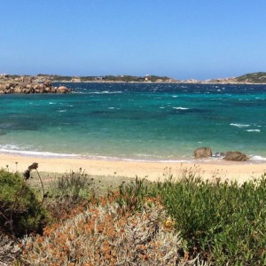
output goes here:
[{"label": "dense bright-green leafy shrub in the right foreground", "polygon": [[158,184],[190,253],[215,265],[266,265],[266,178],[215,183],[190,176]]}]

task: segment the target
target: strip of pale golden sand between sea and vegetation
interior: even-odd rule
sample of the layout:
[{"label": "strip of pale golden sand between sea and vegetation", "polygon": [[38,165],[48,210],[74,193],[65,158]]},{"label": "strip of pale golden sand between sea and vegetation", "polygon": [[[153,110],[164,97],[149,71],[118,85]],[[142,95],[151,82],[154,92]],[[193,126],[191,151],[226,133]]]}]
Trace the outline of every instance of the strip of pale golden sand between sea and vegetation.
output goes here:
[{"label": "strip of pale golden sand between sea and vegetation", "polygon": [[38,162],[40,172],[66,173],[80,168],[92,176],[125,176],[147,178],[151,181],[163,180],[172,175],[178,178],[185,171],[196,172],[205,179],[221,178],[245,182],[260,177],[266,172],[266,163],[214,161],[197,163],[143,162],[119,160],[89,160],[75,158],[41,158],[10,154],[0,154],[0,168],[23,172],[33,162]]}]

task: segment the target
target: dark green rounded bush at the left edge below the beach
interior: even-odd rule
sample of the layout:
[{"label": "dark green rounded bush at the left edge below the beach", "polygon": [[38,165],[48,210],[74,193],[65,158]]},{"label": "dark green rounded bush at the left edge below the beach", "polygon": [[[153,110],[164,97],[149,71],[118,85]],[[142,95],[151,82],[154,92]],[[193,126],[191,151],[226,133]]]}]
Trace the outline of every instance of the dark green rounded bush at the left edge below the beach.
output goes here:
[{"label": "dark green rounded bush at the left edge below the beach", "polygon": [[0,169],[0,228],[14,236],[41,232],[47,215],[19,174]]}]

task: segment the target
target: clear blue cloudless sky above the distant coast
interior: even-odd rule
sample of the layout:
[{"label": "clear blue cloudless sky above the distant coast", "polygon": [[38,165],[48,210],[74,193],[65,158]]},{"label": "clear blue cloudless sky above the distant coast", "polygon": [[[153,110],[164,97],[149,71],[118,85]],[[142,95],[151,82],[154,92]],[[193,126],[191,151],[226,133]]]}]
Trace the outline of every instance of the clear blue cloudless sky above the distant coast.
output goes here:
[{"label": "clear blue cloudless sky above the distant coast", "polygon": [[0,73],[266,71],[265,0],[0,0]]}]

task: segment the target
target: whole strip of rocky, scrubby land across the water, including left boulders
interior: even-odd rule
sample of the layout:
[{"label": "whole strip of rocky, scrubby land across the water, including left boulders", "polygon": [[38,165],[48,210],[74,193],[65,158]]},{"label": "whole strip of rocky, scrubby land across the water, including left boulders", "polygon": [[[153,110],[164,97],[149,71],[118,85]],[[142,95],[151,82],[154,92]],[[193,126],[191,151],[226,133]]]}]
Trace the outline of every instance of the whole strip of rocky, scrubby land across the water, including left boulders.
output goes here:
[{"label": "whole strip of rocky, scrubby land across the water, including left boulders", "polygon": [[217,78],[205,81],[177,80],[158,75],[104,75],[104,76],[68,76],[57,74],[0,74],[0,94],[10,93],[66,93],[65,86],[59,88],[51,85],[54,82],[156,82],[156,83],[190,83],[190,84],[266,84],[266,72],[244,74],[239,77]]}]

